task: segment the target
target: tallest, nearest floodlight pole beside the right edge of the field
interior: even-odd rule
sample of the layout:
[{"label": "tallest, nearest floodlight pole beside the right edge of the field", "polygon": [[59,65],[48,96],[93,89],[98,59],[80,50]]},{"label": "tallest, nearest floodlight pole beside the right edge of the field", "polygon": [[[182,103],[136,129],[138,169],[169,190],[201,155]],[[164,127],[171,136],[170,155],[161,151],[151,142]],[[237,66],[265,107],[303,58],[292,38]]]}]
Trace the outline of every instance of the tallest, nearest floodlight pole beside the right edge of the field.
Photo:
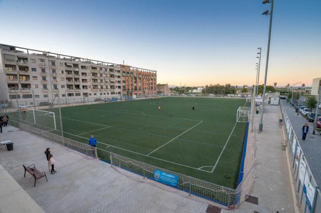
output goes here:
[{"label": "tallest, nearest floodlight pole beside the right edge of the field", "polygon": [[262,102],[262,112],[261,112],[261,119],[259,124],[259,132],[263,131],[263,113],[264,113],[264,106],[265,106],[265,92],[267,90],[267,66],[268,66],[268,56],[270,52],[270,42],[271,42],[271,29],[272,29],[272,16],[273,16],[273,0],[271,0],[271,11],[270,11],[270,23],[268,28],[268,41],[267,41],[267,61],[265,66],[265,77],[264,77],[264,87],[263,87],[263,102]]}]

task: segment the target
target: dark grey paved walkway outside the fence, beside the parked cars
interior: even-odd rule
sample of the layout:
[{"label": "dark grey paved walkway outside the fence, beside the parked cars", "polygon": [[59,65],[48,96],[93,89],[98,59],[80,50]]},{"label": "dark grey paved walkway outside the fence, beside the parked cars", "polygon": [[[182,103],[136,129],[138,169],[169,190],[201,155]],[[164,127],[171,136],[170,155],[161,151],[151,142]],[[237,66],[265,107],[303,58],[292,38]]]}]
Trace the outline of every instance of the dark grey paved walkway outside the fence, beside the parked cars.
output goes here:
[{"label": "dark grey paved walkway outside the fence, beside the parked cars", "polygon": [[[297,115],[295,109],[290,107],[289,103],[286,103],[285,100],[282,101],[283,106],[286,110],[287,116],[289,117],[293,130],[298,137],[303,153],[305,154],[305,159],[309,164],[309,167],[313,173],[313,177],[317,182],[318,186],[321,186],[321,136],[320,132],[316,131],[316,134],[313,135],[313,123],[308,122],[305,117],[300,113]],[[309,125],[309,133],[306,135],[305,141],[302,139],[302,130],[304,124]]]}]

